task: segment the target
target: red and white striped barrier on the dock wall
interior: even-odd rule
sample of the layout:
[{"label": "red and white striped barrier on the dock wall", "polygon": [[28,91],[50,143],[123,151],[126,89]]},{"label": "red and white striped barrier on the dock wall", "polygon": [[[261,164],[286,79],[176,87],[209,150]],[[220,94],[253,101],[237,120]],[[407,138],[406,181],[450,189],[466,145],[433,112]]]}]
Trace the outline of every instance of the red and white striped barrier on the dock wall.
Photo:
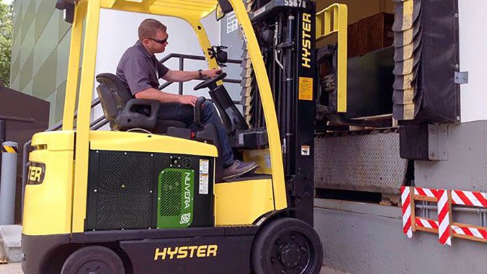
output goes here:
[{"label": "red and white striped barrier on the dock wall", "polygon": [[[451,238],[464,238],[487,242],[487,227],[454,223],[452,206],[487,208],[487,193],[479,191],[443,190],[433,188],[401,187],[403,233],[412,238],[416,230],[437,233],[440,244],[451,245]],[[437,203],[438,221],[416,217],[414,203],[428,201]]]}]

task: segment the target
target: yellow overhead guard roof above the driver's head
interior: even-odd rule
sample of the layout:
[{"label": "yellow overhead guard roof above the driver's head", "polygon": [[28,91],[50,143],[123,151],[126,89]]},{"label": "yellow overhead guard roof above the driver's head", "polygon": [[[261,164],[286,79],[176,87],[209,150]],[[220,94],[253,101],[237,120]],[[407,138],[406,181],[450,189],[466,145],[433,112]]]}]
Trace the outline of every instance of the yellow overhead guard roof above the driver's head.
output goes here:
[{"label": "yellow overhead guard roof above the driver's head", "polygon": [[[217,0],[101,0],[101,8],[161,14],[185,12],[188,16],[205,17],[213,12]],[[171,14],[172,12],[167,12]]]}]

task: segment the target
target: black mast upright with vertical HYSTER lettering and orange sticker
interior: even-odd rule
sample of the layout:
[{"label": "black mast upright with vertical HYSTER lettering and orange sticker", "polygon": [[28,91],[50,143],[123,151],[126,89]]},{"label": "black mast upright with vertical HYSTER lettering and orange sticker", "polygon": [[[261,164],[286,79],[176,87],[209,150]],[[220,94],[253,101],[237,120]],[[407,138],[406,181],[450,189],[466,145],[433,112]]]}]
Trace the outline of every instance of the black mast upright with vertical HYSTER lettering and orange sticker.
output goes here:
[{"label": "black mast upright with vertical HYSTER lettering and orange sticker", "polygon": [[297,15],[297,81],[295,81],[295,136],[293,140],[294,167],[295,167],[295,216],[310,225],[313,225],[313,197],[314,197],[314,64],[316,53],[314,51],[314,5]]}]

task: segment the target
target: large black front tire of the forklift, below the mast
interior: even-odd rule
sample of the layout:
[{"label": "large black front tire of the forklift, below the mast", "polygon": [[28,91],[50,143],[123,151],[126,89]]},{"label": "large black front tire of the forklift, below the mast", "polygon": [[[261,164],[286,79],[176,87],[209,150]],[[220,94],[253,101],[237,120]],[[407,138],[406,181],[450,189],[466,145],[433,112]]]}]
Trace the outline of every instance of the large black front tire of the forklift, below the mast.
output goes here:
[{"label": "large black front tire of the forklift, below the mast", "polygon": [[271,221],[253,241],[252,267],[256,274],[319,274],[322,264],[320,237],[301,220]]}]

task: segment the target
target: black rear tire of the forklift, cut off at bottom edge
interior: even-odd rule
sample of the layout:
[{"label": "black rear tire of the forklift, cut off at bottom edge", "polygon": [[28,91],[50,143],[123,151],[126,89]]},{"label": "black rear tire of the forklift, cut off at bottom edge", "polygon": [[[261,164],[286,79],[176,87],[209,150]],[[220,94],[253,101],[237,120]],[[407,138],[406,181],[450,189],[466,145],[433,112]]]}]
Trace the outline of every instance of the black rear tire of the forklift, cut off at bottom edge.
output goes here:
[{"label": "black rear tire of the forklift, cut off at bottom edge", "polygon": [[122,260],[112,249],[83,247],[71,254],[62,265],[61,274],[124,274]]}]

